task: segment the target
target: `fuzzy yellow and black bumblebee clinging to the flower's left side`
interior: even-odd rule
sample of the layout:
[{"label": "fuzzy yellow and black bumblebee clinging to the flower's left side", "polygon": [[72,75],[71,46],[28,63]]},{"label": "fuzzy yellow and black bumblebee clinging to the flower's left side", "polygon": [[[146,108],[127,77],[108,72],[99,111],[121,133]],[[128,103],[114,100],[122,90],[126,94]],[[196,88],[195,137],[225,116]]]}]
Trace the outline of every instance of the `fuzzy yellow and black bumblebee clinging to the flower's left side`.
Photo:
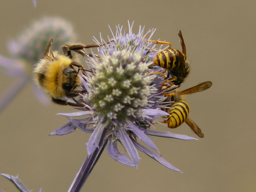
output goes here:
[{"label": "fuzzy yellow and black bumblebee clinging to the flower's left side", "polygon": [[[78,103],[66,102],[67,99],[63,100],[63,98],[78,96],[74,89],[82,85],[78,72],[85,69],[76,54],[85,56],[84,48],[98,47],[98,44],[66,44],[62,46],[64,54],[61,54],[52,50],[52,42],[51,39],[46,47],[44,58],[39,60],[34,68],[36,84],[49,93],[56,104],[82,106]],[[71,51],[74,51],[74,56]]]}]

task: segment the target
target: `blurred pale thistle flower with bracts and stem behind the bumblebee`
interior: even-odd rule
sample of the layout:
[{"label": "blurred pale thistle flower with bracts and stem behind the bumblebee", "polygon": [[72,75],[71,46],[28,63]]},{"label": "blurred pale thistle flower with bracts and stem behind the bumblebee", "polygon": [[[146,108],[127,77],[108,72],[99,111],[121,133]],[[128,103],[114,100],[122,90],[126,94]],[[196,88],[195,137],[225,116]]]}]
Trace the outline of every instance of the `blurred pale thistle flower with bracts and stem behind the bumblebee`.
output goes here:
[{"label": "blurred pale thistle flower with bracts and stem behind the bumblebee", "polygon": [[[16,59],[0,55],[0,67],[9,76],[20,78],[0,102],[0,111],[14,96],[31,80],[32,69],[38,58],[42,58],[45,48],[51,38],[54,38],[54,50],[69,41],[74,41],[76,35],[72,25],[58,17],[44,17],[35,21],[16,40],[8,42],[8,50]],[[34,85],[35,94],[42,103],[49,102],[48,97]]]}]

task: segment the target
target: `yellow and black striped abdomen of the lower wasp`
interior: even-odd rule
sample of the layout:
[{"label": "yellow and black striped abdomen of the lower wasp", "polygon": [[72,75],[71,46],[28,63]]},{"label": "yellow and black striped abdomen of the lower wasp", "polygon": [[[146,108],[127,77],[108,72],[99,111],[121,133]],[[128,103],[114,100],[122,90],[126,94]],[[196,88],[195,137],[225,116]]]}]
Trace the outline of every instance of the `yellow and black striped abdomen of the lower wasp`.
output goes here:
[{"label": "yellow and black striped abdomen of the lower wasp", "polygon": [[188,117],[189,106],[184,100],[176,102],[172,109],[168,110],[169,116],[167,124],[169,128],[176,128],[180,126]]}]

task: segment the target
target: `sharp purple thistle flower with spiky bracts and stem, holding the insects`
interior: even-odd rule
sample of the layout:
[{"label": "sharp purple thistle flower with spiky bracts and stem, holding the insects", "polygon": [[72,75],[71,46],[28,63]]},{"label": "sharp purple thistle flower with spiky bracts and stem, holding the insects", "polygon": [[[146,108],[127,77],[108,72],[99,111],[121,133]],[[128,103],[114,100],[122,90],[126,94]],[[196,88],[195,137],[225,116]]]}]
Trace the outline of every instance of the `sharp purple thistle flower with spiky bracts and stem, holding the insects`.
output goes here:
[{"label": "sharp purple thistle flower with spiky bracts and stem, holding the insects", "polygon": [[[174,92],[175,86],[164,84],[163,69],[154,65],[152,60],[160,51],[145,41],[154,34],[154,29],[144,34],[144,27],[138,34],[122,32],[122,27],[116,27],[116,35],[107,43],[102,38],[97,44],[105,44],[98,48],[97,55],[86,60],[90,70],[83,71],[80,78],[83,82],[82,91],[73,102],[83,104],[76,107],[80,112],[60,114],[67,116],[70,122],[54,130],[51,135],[63,135],[73,132],[76,128],[92,133],[88,143],[88,156],[78,172],[69,191],[79,191],[96,164],[100,154],[107,146],[108,154],[116,161],[138,168],[139,156],[137,149],[146,153],[164,166],[179,171],[162,156],[149,150],[137,139],[142,140],[151,149],[158,152],[156,145],[148,135],[194,140],[195,138],[150,130],[158,118],[169,116],[163,109],[166,107],[166,95],[163,92]],[[166,83],[167,84],[167,83]],[[170,105],[170,102],[167,105]],[[72,117],[87,116],[82,119]],[[153,126],[154,127],[154,126]],[[119,152],[118,142],[125,148],[130,159]]]}]

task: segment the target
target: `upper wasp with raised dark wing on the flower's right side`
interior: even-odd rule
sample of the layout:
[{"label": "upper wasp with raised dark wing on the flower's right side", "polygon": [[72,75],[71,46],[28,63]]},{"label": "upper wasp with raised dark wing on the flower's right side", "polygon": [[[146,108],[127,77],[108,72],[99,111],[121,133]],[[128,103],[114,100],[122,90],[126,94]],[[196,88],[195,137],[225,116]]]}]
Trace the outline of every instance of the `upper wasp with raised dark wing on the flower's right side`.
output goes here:
[{"label": "upper wasp with raised dark wing on the flower's right side", "polygon": [[180,37],[180,44],[182,52],[172,49],[172,44],[163,41],[146,40],[148,42],[155,42],[156,44],[169,44],[169,48],[157,54],[154,58],[154,64],[168,70],[168,76],[172,75],[172,83],[180,86],[190,72],[190,65],[187,61],[186,46],[181,31],[178,36]]}]

